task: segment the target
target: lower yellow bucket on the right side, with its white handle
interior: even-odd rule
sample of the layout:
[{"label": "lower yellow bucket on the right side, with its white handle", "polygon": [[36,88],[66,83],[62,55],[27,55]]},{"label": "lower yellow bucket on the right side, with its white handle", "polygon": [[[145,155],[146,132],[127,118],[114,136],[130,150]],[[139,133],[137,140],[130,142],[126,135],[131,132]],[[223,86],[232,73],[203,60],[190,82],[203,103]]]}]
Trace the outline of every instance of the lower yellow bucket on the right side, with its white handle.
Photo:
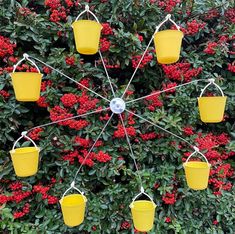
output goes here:
[{"label": "lower yellow bucket on the right side, with its white handle", "polygon": [[[189,159],[195,154],[199,153],[203,156],[206,162],[191,161]],[[208,163],[207,158],[198,150],[193,152],[183,164],[186,181],[189,188],[194,190],[203,190],[208,186],[208,179],[210,174],[211,165]]]}]

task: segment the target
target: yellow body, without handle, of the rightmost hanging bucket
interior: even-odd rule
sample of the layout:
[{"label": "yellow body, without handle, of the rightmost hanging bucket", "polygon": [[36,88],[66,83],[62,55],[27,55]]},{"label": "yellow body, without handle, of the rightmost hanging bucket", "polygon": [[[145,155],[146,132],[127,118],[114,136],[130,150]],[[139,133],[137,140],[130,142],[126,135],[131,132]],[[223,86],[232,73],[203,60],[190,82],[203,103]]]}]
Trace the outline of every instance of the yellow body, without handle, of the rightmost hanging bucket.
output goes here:
[{"label": "yellow body, without handle, of the rightmost hanging bucket", "polygon": [[227,97],[199,97],[200,118],[205,123],[218,123],[224,118]]}]

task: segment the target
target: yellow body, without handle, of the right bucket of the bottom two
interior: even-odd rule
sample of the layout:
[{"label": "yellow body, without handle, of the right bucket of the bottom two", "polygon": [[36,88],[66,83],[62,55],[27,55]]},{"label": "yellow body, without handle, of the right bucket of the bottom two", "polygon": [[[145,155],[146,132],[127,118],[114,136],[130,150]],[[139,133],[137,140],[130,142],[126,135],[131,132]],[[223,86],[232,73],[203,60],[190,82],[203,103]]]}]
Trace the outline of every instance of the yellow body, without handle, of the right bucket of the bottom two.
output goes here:
[{"label": "yellow body, without handle, of the right bucket of the bottom two", "polygon": [[148,232],[153,228],[156,205],[153,201],[138,200],[130,205],[135,228],[140,232]]}]

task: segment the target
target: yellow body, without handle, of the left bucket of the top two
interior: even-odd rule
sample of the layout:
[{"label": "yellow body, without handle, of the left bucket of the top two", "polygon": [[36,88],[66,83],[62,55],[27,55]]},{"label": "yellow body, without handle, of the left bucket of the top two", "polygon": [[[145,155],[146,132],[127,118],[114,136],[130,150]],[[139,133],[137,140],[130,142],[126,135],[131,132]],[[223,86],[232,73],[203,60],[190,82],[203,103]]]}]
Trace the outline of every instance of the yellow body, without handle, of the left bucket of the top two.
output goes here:
[{"label": "yellow body, without handle, of the left bucket of the top two", "polygon": [[93,20],[78,20],[72,27],[77,51],[87,55],[97,53],[102,25]]}]

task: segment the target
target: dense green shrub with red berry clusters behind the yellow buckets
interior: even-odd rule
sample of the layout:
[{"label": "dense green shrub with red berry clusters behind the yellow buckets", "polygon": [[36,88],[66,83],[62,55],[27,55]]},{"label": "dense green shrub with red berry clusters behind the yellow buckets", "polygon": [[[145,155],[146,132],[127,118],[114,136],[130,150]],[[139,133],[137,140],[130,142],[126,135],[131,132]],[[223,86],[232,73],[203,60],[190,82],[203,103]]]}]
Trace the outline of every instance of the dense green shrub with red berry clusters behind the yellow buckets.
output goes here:
[{"label": "dense green shrub with red berry clusters behind the yellow buckets", "polygon": [[[182,163],[192,149],[125,114],[144,187],[157,203],[150,233],[234,233],[235,5],[228,0],[0,1],[1,233],[134,233],[129,204],[139,192],[139,181],[118,117],[102,134],[77,178],[77,187],[88,198],[85,222],[79,227],[63,224],[59,199],[109,112],[31,131],[29,135],[42,148],[39,172],[33,177],[17,178],[10,160],[9,150],[22,131],[108,104],[39,63],[44,73],[40,100],[17,102],[9,72],[23,53],[112,98],[99,56],[83,56],[75,49],[71,23],[86,2],[103,24],[100,50],[117,96],[155,26],[168,13],[185,34],[180,61],[158,64],[151,44],[125,98],[208,78],[215,78],[228,96],[224,121],[218,124],[204,124],[199,118],[197,97],[205,82],[128,104],[134,112],[197,145],[212,164],[209,188],[190,190]],[[23,64],[18,69],[33,68]],[[209,95],[213,94],[211,89]]]}]

